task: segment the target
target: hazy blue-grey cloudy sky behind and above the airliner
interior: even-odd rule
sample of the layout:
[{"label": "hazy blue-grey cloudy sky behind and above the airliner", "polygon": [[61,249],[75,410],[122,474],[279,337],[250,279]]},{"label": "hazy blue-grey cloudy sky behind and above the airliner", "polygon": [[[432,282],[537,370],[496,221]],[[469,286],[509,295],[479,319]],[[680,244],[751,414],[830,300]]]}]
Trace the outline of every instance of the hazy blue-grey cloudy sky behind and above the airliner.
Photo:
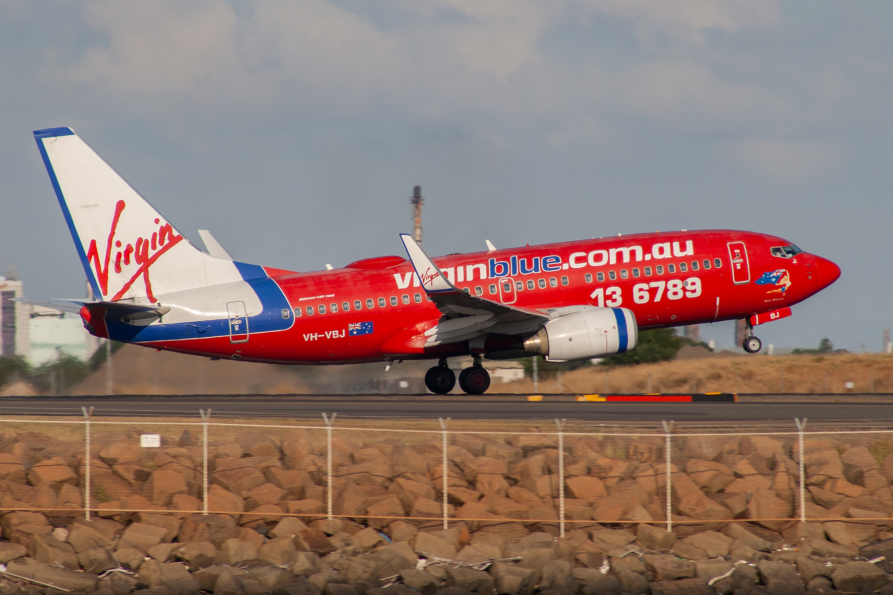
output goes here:
[{"label": "hazy blue-grey cloudy sky behind and above the airliner", "polygon": [[[196,245],[280,269],[659,230],[843,270],[764,344],[879,351],[893,4],[0,0],[0,274],[84,273],[31,137],[69,126]],[[730,346],[731,323],[702,326]]]}]

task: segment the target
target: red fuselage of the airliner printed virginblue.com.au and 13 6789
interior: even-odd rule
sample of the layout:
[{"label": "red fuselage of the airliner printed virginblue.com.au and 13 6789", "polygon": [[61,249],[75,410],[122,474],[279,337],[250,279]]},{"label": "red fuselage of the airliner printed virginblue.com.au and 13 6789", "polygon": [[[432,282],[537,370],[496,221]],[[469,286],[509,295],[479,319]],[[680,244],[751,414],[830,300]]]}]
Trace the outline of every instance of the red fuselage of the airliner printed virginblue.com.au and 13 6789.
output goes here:
[{"label": "red fuselage of the airliner printed virginblue.com.au and 13 6789", "polygon": [[[639,327],[655,328],[783,309],[840,276],[830,260],[791,246],[777,236],[704,230],[433,260],[457,287],[493,302],[527,310],[622,306],[632,310]],[[467,342],[424,346],[424,332],[438,324],[440,312],[427,299],[411,263],[401,257],[310,273],[265,270],[291,305],[292,324],[285,330],[249,333],[238,343],[218,336],[141,344],[215,358],[300,364],[435,359],[469,352]],[[516,337],[488,336],[484,351],[519,345]]]}]

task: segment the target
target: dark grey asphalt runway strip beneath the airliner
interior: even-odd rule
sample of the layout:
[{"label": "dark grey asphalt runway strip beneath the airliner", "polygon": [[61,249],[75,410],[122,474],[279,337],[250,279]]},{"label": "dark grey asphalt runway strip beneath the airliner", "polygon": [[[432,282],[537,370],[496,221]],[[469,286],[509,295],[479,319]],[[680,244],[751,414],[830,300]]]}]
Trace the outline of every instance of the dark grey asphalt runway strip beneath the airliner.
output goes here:
[{"label": "dark grey asphalt runway strip beneath the airliner", "polygon": [[[544,395],[543,401],[527,401],[525,395],[114,395],[71,397],[0,398],[0,416],[81,416],[81,407],[94,407],[94,416],[197,417],[198,409],[212,409],[214,417],[320,417],[321,412],[341,417],[465,419],[551,419],[563,417],[590,423],[626,423],[675,420],[680,423],[792,422],[807,417],[810,423],[873,423],[893,426],[893,399],[871,395],[875,402],[772,401],[772,395],[741,395],[736,403],[611,403],[574,401],[574,395]],[[763,398],[757,398],[762,396]],[[827,399],[862,395],[828,395]],[[865,395],[866,397],[868,395]],[[807,401],[807,399],[813,402]],[[886,402],[878,402],[886,401]]]}]

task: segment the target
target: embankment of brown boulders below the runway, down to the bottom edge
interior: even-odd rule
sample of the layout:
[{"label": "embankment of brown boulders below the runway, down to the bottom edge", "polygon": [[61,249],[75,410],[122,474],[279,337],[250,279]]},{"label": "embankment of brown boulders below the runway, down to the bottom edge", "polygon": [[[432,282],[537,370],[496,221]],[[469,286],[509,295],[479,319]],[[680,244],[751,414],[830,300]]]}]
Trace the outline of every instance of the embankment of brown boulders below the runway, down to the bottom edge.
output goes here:
[{"label": "embankment of brown boulders below the runway, down to the bottom edge", "polygon": [[821,523],[790,519],[796,436],[674,436],[672,533],[663,436],[567,434],[558,537],[551,434],[453,434],[449,514],[465,520],[443,530],[418,518],[442,511],[439,436],[338,431],[328,519],[321,431],[213,436],[209,515],[192,434],[140,448],[146,428],[96,432],[84,520],[83,442],[5,431],[0,593],[893,593],[885,434],[805,441],[806,513],[838,519]]}]

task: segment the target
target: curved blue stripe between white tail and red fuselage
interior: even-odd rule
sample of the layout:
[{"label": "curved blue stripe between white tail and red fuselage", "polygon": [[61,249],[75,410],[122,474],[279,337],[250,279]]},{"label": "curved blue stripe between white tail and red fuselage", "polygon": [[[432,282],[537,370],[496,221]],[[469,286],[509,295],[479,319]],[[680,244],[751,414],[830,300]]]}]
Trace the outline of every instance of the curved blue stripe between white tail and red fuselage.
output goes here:
[{"label": "curved blue stripe between white tail and red fuselage", "polygon": [[[290,314],[291,306],[280,286],[267,275],[263,267],[245,262],[233,262],[233,264],[236,265],[242,279],[251,285],[261,301],[261,313],[248,317],[250,334],[270,333],[290,328],[294,324],[295,317]],[[282,310],[289,310],[288,318],[282,318]],[[113,321],[108,322],[107,326],[113,340],[126,343],[206,339],[230,335],[230,320],[228,318],[149,326],[134,326],[125,322]]]}]

